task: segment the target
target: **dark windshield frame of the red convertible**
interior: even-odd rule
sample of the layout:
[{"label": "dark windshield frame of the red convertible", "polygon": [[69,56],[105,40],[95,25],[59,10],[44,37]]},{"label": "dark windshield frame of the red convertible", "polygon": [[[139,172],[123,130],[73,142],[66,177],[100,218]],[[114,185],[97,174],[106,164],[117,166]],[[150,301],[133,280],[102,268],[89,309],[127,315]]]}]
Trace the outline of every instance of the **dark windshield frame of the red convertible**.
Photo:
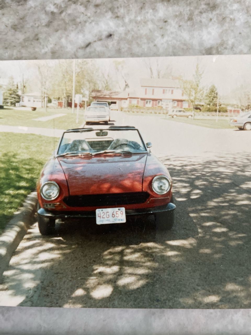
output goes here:
[{"label": "dark windshield frame of the red convertible", "polygon": [[[137,131],[138,132],[138,135],[139,135],[139,138],[140,138],[140,140],[142,142],[142,147],[143,147],[144,150],[141,150],[141,151],[132,151],[131,154],[148,153],[146,144],[145,144],[145,142],[144,142],[144,140],[143,140],[143,138],[141,136],[141,133],[139,132],[139,130],[137,128],[127,127],[127,126],[125,126],[125,127],[111,126],[109,128],[77,128],[77,129],[68,129],[68,130],[64,131],[63,134],[62,134],[62,137],[61,137],[61,139],[59,141],[58,147],[57,147],[56,157],[62,156],[62,154],[63,154],[62,152],[59,153],[59,149],[60,149],[61,143],[63,141],[64,135],[67,134],[67,133],[83,133],[83,132],[92,132],[92,131],[94,131],[94,132],[97,132],[97,131],[119,131],[119,130],[123,130],[123,131],[130,131],[131,130],[131,131]],[[139,143],[139,145],[141,145],[141,144]],[[102,150],[102,151],[106,151],[106,150]],[[123,153],[123,151],[125,151],[125,150],[119,150],[118,149],[116,151],[118,153],[119,152]],[[85,153],[85,151],[83,151],[83,153]],[[97,152],[93,152],[93,153],[98,153],[98,151]],[[81,151],[79,152],[79,154],[81,154]]]}]

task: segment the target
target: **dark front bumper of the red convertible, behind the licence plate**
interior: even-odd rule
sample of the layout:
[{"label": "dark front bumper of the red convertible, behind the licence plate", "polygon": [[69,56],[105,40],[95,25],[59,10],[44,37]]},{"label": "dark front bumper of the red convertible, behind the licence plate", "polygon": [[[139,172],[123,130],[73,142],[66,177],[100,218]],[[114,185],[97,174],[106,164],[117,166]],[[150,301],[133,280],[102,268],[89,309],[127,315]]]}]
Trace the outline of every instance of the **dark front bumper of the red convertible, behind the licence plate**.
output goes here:
[{"label": "dark front bumper of the red convertible, behind the licence plate", "polygon": [[[122,206],[121,206],[122,207]],[[158,206],[153,208],[137,208],[137,209],[126,209],[126,216],[128,215],[142,215],[142,214],[154,214],[161,212],[173,212],[176,206],[169,202],[164,206]],[[54,219],[68,219],[68,218],[83,218],[83,217],[96,217],[96,211],[83,211],[83,212],[68,212],[68,211],[48,211],[44,208],[39,208],[37,214]]]}]

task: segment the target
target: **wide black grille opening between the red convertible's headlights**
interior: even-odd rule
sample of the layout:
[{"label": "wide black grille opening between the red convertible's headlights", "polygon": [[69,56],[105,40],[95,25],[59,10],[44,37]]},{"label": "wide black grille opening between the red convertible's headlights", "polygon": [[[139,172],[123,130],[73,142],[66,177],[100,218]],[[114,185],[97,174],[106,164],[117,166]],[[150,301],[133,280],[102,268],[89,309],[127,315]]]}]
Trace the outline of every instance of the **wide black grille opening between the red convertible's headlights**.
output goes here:
[{"label": "wide black grille opening between the red convertible's headlights", "polygon": [[118,206],[142,204],[148,197],[148,192],[71,195],[64,202],[70,207]]}]

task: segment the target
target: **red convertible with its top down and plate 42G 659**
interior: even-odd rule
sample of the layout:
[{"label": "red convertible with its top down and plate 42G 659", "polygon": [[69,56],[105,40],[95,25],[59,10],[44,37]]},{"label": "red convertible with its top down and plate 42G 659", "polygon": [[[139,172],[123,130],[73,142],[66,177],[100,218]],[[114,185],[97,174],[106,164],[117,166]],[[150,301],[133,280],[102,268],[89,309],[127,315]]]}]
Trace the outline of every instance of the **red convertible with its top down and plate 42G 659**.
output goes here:
[{"label": "red convertible with its top down and plate 42G 659", "polygon": [[150,214],[158,229],[170,229],[172,181],[150,147],[130,126],[65,131],[37,183],[40,233],[53,234],[58,218],[113,224]]}]

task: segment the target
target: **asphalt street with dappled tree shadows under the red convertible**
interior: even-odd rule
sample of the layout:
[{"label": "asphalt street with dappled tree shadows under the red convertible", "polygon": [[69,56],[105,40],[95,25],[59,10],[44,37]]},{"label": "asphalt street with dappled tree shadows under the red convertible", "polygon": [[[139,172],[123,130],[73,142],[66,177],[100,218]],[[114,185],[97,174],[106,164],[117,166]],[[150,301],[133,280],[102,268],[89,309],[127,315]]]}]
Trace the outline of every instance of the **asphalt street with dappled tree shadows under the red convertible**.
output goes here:
[{"label": "asphalt street with dappled tree shadows under the red convertible", "polygon": [[115,111],[109,125],[138,127],[168,167],[173,229],[156,232],[151,217],[109,228],[71,220],[45,237],[35,222],[4,273],[0,305],[251,308],[251,132]]}]

